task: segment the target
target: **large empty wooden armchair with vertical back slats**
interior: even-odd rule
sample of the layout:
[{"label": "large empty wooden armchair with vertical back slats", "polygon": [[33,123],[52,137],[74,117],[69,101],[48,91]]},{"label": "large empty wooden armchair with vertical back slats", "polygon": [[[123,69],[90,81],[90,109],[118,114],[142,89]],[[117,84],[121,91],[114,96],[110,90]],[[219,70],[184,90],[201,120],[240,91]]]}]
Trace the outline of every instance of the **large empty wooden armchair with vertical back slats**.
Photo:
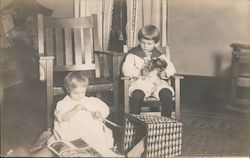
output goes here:
[{"label": "large empty wooden armchair with vertical back slats", "polygon": [[[69,71],[86,71],[87,76],[92,77],[89,78],[90,86],[87,92],[113,92],[112,107],[114,114],[117,114],[117,61],[112,53],[100,50],[97,26],[96,14],[81,18],[38,15],[39,71],[40,80],[46,81],[48,127],[52,126],[54,96],[64,94],[62,74]],[[104,55],[107,55],[108,59],[111,58],[110,76],[105,78],[102,77],[100,69],[100,59],[103,59]],[[56,79],[62,81],[55,82]]]}]

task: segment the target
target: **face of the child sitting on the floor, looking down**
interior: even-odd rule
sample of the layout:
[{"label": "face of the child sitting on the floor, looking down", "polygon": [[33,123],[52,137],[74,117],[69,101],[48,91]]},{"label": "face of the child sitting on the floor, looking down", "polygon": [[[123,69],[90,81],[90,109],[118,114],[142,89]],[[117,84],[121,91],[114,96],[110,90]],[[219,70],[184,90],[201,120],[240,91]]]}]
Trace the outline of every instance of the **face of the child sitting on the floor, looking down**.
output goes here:
[{"label": "face of the child sitting on the floor, looking down", "polygon": [[85,97],[86,91],[87,91],[87,87],[85,86],[76,87],[74,89],[69,90],[69,96],[71,99],[78,101]]}]

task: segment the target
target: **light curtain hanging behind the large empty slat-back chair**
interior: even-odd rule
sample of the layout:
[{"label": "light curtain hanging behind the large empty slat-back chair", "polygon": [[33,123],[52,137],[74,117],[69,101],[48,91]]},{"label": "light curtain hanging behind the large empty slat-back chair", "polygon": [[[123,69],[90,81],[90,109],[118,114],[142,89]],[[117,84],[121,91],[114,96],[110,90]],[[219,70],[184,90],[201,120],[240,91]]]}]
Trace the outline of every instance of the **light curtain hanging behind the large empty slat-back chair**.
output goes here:
[{"label": "light curtain hanging behind the large empty slat-back chair", "polygon": [[74,0],[74,17],[97,14],[98,35],[102,50],[107,50],[112,24],[114,0]]}]

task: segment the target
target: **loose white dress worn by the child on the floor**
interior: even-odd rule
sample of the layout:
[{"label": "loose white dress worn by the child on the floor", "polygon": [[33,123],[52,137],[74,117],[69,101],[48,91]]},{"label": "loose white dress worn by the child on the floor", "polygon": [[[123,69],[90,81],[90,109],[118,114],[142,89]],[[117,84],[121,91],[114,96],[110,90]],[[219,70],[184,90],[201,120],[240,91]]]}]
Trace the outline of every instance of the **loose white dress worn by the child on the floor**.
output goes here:
[{"label": "loose white dress worn by the child on the floor", "polygon": [[102,153],[109,153],[109,148],[113,147],[112,131],[100,119],[93,119],[90,112],[81,110],[70,120],[62,121],[62,114],[71,110],[77,104],[82,104],[88,111],[101,112],[104,118],[109,115],[109,107],[98,98],[85,97],[79,101],[74,101],[66,96],[57,103],[54,113],[54,138],[65,141],[82,138]]}]

